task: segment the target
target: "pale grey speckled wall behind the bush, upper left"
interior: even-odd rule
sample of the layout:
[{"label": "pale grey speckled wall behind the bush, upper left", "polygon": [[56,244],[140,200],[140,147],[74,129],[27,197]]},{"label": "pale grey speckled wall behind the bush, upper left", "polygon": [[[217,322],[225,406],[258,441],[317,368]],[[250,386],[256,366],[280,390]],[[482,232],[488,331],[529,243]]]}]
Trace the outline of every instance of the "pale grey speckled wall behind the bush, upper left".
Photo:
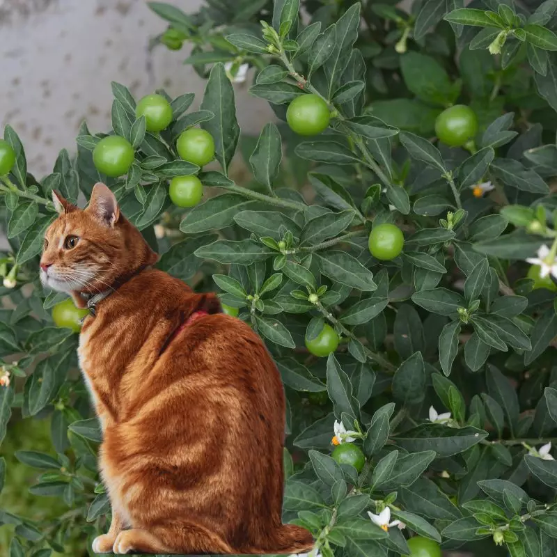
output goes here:
[{"label": "pale grey speckled wall behind the bush, upper left", "polygon": [[[166,1],[186,12],[201,4]],[[188,47],[148,52],[148,38],[165,27],[144,0],[0,0],[0,124],[21,137],[31,172],[40,178],[58,150],[74,150],[82,120],[92,131],[109,129],[112,80],[136,98],[159,87],[193,92],[198,107],[205,82],[182,64]],[[248,84],[235,88],[242,130],[258,133],[272,111]]]}]

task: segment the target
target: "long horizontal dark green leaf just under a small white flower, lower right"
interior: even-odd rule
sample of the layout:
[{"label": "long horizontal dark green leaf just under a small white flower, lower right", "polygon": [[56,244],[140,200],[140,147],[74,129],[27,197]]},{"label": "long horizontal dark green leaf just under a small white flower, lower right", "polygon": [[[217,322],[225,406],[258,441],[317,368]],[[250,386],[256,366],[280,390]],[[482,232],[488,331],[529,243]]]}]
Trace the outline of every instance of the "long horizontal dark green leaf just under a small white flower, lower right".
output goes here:
[{"label": "long horizontal dark green leaf just under a small white flower, lower right", "polygon": [[395,441],[410,453],[434,450],[437,457],[444,458],[463,453],[486,437],[487,432],[476,427],[455,429],[439,423],[423,423],[395,437]]}]

